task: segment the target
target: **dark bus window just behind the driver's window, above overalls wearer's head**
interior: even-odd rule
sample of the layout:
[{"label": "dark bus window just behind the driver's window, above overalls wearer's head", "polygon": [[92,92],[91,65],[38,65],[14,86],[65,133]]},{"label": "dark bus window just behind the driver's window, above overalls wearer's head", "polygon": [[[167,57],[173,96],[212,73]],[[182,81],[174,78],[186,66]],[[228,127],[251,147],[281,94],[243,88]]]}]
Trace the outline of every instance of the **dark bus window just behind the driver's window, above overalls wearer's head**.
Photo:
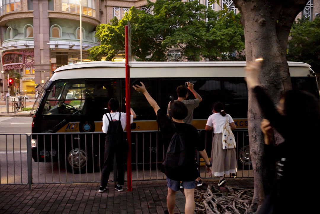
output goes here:
[{"label": "dark bus window just behind the driver's window, above overalls wearer's head", "polygon": [[109,112],[108,102],[111,98],[115,97],[119,100],[118,84],[119,81],[116,79],[87,81],[87,105],[84,105],[84,108],[86,108],[87,114],[93,117],[92,120],[101,121],[102,116]]}]

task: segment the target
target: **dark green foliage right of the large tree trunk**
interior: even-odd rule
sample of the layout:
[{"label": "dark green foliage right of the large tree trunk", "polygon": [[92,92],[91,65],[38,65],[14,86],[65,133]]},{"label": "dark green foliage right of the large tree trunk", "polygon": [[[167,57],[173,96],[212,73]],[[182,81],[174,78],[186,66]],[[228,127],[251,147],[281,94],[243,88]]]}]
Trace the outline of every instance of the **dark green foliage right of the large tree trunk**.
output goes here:
[{"label": "dark green foliage right of the large tree trunk", "polygon": [[287,60],[306,62],[320,73],[320,18],[294,22],[290,37]]}]

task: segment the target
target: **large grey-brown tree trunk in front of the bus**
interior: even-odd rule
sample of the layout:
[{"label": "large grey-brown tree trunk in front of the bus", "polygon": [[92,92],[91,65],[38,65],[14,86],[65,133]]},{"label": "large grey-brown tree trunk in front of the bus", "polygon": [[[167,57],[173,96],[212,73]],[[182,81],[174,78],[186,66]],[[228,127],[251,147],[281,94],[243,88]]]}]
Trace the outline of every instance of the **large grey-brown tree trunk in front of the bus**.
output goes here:
[{"label": "large grey-brown tree trunk in front of the bus", "polygon": [[[281,94],[292,88],[286,61],[288,36],[295,17],[307,1],[234,0],[244,26],[246,61],[264,58],[258,81],[275,104]],[[259,105],[249,90],[248,131],[254,176],[252,211],[257,209],[269,189],[260,130],[262,118]]]}]

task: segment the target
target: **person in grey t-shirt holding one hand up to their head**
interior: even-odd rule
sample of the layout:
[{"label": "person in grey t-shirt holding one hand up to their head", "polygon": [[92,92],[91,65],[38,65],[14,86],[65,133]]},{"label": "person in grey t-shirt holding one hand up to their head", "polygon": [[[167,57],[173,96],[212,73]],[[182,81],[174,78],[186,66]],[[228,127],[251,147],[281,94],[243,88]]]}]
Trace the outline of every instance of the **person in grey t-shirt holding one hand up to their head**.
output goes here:
[{"label": "person in grey t-shirt holding one hand up to their head", "polygon": [[[177,95],[178,95],[178,101],[181,101],[184,103],[187,108],[188,108],[188,115],[187,117],[183,120],[185,123],[192,125],[192,118],[193,118],[193,110],[199,106],[199,103],[202,101],[201,96],[196,93],[195,89],[193,88],[193,84],[190,82],[187,82],[187,86],[178,86],[177,87]],[[188,89],[192,92],[193,95],[195,95],[196,99],[194,100],[187,100],[188,98]],[[169,114],[170,110],[170,103],[168,104],[168,110],[167,113]]]}]

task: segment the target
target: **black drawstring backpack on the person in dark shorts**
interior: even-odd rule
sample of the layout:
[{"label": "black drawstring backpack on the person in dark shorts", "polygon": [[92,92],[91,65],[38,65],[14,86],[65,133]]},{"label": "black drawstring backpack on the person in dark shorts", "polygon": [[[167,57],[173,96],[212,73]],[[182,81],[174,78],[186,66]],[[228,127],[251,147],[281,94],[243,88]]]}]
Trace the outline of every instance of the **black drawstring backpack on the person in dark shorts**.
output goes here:
[{"label": "black drawstring backpack on the person in dark shorts", "polygon": [[182,133],[177,132],[177,128],[174,123],[173,126],[176,129],[176,132],[171,138],[164,162],[162,164],[166,168],[177,169],[186,166],[187,150]]}]

